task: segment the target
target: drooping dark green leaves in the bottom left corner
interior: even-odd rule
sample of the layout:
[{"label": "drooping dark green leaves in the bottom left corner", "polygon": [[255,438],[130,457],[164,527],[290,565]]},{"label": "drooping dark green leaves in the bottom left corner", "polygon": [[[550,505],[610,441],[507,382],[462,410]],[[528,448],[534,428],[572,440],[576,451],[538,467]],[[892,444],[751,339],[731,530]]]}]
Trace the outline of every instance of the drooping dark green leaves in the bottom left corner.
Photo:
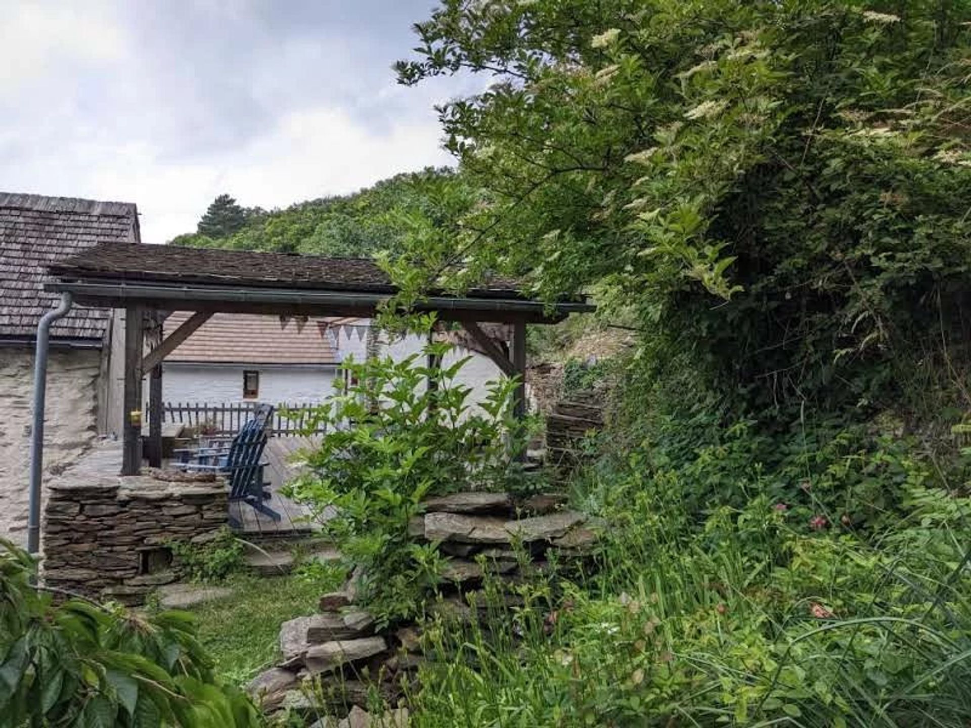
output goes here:
[{"label": "drooping dark green leaves in the bottom left corner", "polygon": [[0,541],[0,728],[259,725],[220,684],[191,616],[146,616],[38,591],[33,558]]}]

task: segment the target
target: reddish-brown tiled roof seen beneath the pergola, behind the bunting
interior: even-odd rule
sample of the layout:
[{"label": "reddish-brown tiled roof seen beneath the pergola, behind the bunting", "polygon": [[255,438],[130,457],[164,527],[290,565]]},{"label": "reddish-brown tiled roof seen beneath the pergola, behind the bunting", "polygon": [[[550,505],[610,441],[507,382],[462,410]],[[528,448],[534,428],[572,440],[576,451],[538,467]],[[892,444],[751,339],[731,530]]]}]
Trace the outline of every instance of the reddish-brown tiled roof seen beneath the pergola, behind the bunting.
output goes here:
[{"label": "reddish-brown tiled roof seen beneath the pergola, behind the bunting", "polygon": [[[175,331],[190,315],[170,314],[165,319],[165,335]],[[213,314],[166,356],[165,362],[336,365],[339,357],[325,331],[330,320]]]}]

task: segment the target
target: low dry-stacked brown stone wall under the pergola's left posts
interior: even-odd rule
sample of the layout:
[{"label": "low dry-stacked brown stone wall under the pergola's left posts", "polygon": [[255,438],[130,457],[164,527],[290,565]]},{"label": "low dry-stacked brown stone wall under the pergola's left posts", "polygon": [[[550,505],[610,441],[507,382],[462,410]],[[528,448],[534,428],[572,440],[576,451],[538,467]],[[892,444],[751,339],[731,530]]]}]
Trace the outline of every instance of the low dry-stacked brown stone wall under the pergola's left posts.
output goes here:
[{"label": "low dry-stacked brown stone wall under the pergola's left posts", "polygon": [[213,476],[188,480],[150,471],[51,482],[49,490],[45,583],[127,605],[141,604],[152,588],[176,579],[167,542],[211,538],[228,508],[225,480]]}]

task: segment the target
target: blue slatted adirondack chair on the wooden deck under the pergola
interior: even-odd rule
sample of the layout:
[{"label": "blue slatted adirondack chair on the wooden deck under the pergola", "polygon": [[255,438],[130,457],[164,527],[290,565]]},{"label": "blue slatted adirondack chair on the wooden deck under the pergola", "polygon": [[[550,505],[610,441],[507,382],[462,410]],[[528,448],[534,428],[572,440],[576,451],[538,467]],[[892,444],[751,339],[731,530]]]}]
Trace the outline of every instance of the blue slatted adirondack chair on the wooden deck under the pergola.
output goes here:
[{"label": "blue slatted adirondack chair on the wooden deck under the pergola", "polygon": [[[281,515],[266,505],[272,494],[265,489],[263,470],[267,463],[262,460],[266,447],[266,426],[273,414],[273,407],[260,405],[251,420],[232,439],[229,447],[201,447],[192,452],[193,458],[178,464],[192,473],[216,473],[229,480],[229,501],[239,501],[254,511],[280,520]],[[230,525],[240,523],[229,517]]]}]

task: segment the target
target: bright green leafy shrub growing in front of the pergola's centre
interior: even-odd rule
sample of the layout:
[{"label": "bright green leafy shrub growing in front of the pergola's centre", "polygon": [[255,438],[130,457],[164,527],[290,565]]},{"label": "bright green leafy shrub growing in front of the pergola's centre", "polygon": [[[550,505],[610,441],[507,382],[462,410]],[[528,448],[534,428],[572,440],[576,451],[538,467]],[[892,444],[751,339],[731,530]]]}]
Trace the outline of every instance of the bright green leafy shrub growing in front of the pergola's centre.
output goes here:
[{"label": "bright green leafy shrub growing in front of the pergola's centre", "polygon": [[438,581],[436,548],[408,532],[422,499],[522,482],[513,455],[531,428],[513,414],[517,381],[491,381],[485,399],[473,402],[471,387],[458,381],[470,357],[452,362],[453,349],[429,342],[400,361],[346,362],[346,379],[309,416],[308,429],[326,434],[309,455],[308,475],[290,487],[361,567],[361,596],[385,622],[417,612]]}]

